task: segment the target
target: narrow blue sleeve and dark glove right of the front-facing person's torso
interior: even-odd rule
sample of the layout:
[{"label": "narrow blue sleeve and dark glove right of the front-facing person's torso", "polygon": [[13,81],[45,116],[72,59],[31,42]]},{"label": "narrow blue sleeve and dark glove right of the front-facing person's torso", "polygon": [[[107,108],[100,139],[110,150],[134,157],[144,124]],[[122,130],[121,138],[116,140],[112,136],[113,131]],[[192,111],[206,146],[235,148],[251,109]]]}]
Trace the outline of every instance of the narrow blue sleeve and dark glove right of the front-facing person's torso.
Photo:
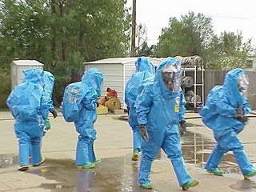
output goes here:
[{"label": "narrow blue sleeve and dark glove right of the front-facing person's torso", "polygon": [[178,122],[179,122],[179,134],[182,136],[186,132],[186,121],[185,121],[185,113],[186,113],[186,99],[183,93],[182,88],[179,90],[179,110],[178,110]]}]

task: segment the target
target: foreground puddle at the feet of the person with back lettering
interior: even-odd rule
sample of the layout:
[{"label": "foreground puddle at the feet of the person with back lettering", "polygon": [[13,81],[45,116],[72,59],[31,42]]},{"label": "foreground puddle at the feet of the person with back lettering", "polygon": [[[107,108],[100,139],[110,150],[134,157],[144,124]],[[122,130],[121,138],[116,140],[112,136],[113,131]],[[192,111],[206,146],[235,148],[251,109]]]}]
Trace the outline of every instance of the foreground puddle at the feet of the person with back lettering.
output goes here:
[{"label": "foreground puddle at the feet of the person with back lettering", "polygon": [[158,191],[143,190],[138,186],[138,164],[130,161],[130,154],[123,158],[103,158],[101,163],[89,170],[78,170],[71,159],[46,160],[42,167],[28,172],[58,182],[41,185],[53,192]]}]

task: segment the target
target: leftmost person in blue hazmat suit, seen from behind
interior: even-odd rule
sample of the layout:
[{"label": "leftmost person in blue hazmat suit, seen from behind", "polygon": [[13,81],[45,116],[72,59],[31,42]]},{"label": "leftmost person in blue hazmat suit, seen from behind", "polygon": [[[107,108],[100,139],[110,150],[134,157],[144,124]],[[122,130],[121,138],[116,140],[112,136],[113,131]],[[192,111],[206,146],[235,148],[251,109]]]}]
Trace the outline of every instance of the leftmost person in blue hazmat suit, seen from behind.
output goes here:
[{"label": "leftmost person in blue hazmat suit, seen from behind", "polygon": [[[44,90],[45,71],[37,69],[23,70],[23,83],[14,86],[7,98],[7,106],[15,118],[14,131],[18,138],[19,168],[29,169],[29,154],[31,149],[32,166],[41,165],[45,159],[41,154],[43,128],[50,130],[48,118],[51,107],[51,97]],[[54,111],[54,109],[52,110]]]}]

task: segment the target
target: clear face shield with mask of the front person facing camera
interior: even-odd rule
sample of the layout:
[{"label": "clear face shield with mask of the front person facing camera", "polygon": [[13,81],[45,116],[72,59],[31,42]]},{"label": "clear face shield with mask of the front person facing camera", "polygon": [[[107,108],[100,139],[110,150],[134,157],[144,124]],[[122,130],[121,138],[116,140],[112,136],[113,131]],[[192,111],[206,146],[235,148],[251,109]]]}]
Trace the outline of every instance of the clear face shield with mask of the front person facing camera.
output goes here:
[{"label": "clear face shield with mask of the front person facing camera", "polygon": [[180,65],[166,65],[162,70],[162,81],[166,89],[171,92],[178,92],[181,86],[182,67]]}]

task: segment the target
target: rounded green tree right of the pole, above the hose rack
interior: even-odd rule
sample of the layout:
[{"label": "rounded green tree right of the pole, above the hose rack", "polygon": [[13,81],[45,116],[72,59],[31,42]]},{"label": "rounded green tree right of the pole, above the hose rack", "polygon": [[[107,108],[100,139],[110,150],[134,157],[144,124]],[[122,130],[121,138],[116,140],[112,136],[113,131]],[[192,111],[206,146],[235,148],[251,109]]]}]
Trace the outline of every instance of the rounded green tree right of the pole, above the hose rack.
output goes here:
[{"label": "rounded green tree right of the pole, above the hose rack", "polygon": [[154,50],[157,57],[200,55],[206,58],[210,42],[214,38],[211,18],[190,12],[180,19],[170,18],[169,26],[162,29],[158,45]]}]

